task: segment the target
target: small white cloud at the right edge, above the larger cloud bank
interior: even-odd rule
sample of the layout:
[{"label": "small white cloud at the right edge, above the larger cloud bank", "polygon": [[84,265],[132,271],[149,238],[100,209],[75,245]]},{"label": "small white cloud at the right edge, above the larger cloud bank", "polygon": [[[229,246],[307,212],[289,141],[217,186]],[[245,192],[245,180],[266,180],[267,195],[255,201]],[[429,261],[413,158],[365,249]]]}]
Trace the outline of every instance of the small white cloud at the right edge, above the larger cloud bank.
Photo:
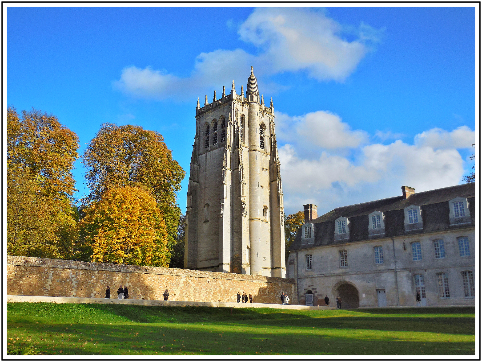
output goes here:
[{"label": "small white cloud at the right edge, above the larger cloud bank", "polygon": [[415,136],[415,144],[429,146],[435,150],[446,148],[471,148],[475,143],[475,132],[462,125],[452,132],[441,128],[432,128]]}]

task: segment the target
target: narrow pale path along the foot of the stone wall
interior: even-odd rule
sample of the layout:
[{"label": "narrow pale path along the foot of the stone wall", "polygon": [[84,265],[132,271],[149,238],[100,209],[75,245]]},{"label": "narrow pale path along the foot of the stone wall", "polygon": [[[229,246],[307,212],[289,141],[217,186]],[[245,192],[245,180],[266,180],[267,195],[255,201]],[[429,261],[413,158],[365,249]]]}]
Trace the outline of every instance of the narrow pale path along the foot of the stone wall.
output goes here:
[{"label": "narrow pale path along the foot of the stone wall", "polygon": [[[7,302],[50,302],[50,303],[99,303],[99,304],[129,304],[136,306],[217,306],[233,308],[279,308],[317,310],[318,306],[292,306],[264,303],[219,303],[219,302],[181,302],[174,300],[145,300],[145,299],[104,299],[104,298],[73,298],[73,297],[45,297],[36,295],[7,295]],[[320,306],[320,310],[335,309],[333,306]]]}]

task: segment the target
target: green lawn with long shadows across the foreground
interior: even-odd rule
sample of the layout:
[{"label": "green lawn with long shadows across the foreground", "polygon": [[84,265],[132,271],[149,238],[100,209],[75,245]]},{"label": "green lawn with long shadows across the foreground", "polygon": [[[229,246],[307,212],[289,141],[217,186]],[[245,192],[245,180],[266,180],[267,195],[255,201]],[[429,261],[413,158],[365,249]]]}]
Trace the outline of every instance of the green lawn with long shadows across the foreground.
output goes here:
[{"label": "green lawn with long shadows across the foreground", "polygon": [[9,354],[474,355],[474,307],[284,310],[8,303]]}]

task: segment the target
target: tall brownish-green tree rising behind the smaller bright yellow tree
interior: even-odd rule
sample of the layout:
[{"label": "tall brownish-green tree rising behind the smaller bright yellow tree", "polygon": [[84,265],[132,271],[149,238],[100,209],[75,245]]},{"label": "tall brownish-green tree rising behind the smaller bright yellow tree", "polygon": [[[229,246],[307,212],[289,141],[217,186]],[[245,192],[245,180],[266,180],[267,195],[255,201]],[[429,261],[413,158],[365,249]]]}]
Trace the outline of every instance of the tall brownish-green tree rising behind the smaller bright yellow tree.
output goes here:
[{"label": "tall brownish-green tree rising behind the smaller bright yellow tree", "polygon": [[144,185],[156,199],[168,234],[168,247],[176,245],[181,209],[176,192],[186,172],[172,158],[160,133],[140,126],[105,123],[85,149],[83,164],[87,168],[90,194],[82,201],[98,201],[114,186]]}]

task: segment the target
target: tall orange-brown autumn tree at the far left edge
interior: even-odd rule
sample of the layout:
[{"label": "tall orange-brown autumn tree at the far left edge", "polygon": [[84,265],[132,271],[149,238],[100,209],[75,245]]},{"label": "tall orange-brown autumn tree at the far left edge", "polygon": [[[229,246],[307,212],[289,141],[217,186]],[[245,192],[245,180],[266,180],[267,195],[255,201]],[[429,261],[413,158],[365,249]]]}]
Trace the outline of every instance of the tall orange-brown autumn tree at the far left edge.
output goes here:
[{"label": "tall orange-brown autumn tree at the far left edge", "polygon": [[45,112],[7,110],[7,253],[70,258],[78,138]]}]

